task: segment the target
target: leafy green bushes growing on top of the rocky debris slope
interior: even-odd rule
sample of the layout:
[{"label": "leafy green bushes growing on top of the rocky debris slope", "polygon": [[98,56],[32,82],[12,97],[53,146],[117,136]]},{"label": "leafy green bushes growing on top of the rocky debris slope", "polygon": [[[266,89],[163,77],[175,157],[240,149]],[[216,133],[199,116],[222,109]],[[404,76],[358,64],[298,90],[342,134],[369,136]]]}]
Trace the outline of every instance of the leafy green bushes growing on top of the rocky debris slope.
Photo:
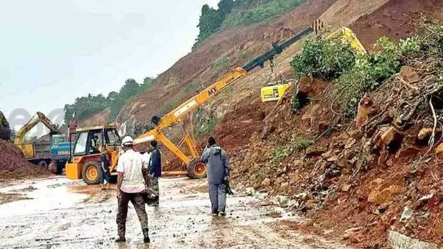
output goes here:
[{"label": "leafy green bushes growing on top of the rocky debris slope", "polygon": [[[335,83],[336,101],[346,116],[353,117],[358,100],[365,92],[377,90],[385,80],[398,73],[404,58],[436,42],[413,36],[395,43],[381,37],[375,44],[378,53],[356,55],[351,46],[339,40],[316,38],[304,43],[302,53],[293,58],[291,65],[299,77],[306,75]],[[300,101],[294,94],[295,111],[301,107]]]}]

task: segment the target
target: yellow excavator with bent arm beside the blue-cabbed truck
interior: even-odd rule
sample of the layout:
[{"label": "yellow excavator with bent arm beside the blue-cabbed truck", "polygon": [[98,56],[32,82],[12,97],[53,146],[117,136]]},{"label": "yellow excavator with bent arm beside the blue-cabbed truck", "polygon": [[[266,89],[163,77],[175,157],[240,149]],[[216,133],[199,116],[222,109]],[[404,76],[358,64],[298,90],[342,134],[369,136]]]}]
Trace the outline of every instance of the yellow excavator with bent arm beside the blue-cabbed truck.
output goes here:
[{"label": "yellow excavator with bent arm beside the blue-cabbed truck", "polygon": [[[39,122],[48,127],[50,140],[25,142],[26,134]],[[31,120],[18,130],[16,138],[14,139],[14,144],[21,149],[28,161],[43,168],[47,168],[51,161],[50,147],[64,141],[65,137],[63,134],[60,134],[60,131],[55,127],[53,122],[43,115],[43,113],[37,112]]]}]

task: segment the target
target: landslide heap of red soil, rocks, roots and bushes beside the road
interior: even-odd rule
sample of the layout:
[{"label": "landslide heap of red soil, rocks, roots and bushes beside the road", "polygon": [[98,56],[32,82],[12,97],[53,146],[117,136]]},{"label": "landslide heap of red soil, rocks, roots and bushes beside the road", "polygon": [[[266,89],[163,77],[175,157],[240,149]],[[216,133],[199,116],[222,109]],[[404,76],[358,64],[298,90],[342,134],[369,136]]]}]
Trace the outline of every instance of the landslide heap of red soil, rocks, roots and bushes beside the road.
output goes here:
[{"label": "landslide heap of red soil, rocks, roots and bushes beside the road", "polygon": [[443,26],[425,17],[415,26],[417,36],[381,38],[353,61],[314,46],[323,61],[311,69],[329,77],[304,76],[292,100],[265,109],[248,146],[231,154],[233,182],[280,196],[273,201],[310,218],[304,228],[358,248],[388,247],[391,230],[442,246]]}]

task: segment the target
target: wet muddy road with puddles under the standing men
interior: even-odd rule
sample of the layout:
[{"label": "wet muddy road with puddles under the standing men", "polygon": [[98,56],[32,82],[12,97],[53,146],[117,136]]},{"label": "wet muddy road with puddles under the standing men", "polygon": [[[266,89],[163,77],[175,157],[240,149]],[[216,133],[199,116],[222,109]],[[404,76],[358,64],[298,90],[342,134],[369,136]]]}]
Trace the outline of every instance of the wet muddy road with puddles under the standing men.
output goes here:
[{"label": "wet muddy road with puddles under the standing men", "polygon": [[[18,201],[0,205],[0,248],[346,248],[284,225],[298,216],[260,206],[260,196],[228,197],[228,216],[210,216],[206,181],[161,179],[161,203],[146,208],[151,244],[144,245],[129,206],[127,243],[117,245],[114,189],[50,178],[2,186]],[[0,194],[0,195],[1,195]]]}]

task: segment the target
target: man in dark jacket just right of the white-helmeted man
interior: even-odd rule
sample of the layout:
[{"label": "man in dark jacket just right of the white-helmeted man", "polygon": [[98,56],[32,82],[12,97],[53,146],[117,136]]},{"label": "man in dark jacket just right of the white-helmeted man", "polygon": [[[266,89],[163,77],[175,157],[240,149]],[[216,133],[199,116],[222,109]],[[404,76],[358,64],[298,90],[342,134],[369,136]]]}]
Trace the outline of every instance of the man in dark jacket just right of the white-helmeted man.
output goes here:
[{"label": "man in dark jacket just right of the white-helmeted man", "polygon": [[159,190],[159,177],[161,177],[161,152],[157,147],[156,140],[151,141],[150,145],[151,154],[149,157],[149,181],[151,182],[151,189],[156,196],[156,201],[152,203],[152,206],[159,206],[160,190]]}]

